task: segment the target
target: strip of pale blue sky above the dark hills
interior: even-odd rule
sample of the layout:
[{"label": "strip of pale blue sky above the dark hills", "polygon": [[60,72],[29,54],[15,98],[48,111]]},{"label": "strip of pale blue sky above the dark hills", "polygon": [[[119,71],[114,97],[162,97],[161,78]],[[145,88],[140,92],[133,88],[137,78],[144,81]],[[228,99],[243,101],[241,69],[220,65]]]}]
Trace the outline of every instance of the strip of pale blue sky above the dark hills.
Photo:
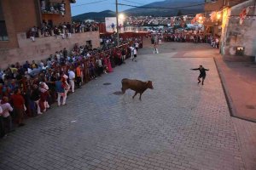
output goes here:
[{"label": "strip of pale blue sky above the dark hills", "polygon": [[[119,3],[142,6],[148,3],[160,2],[164,0],[119,0]],[[119,11],[131,7],[119,5]],[[101,12],[103,10],[115,11],[115,0],[77,0],[77,3],[71,3],[72,16],[89,12]]]}]

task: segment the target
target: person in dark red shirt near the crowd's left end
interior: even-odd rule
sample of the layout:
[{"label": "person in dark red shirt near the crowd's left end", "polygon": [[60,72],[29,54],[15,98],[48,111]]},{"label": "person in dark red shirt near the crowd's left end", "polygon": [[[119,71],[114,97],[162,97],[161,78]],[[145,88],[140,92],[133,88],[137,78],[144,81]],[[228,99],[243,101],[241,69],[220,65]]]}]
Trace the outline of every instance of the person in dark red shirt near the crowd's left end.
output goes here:
[{"label": "person in dark red shirt near the crowd's left end", "polygon": [[15,90],[15,94],[11,96],[10,100],[14,105],[16,122],[18,122],[19,127],[22,127],[25,125],[22,123],[25,115],[25,99],[20,94],[19,88]]}]

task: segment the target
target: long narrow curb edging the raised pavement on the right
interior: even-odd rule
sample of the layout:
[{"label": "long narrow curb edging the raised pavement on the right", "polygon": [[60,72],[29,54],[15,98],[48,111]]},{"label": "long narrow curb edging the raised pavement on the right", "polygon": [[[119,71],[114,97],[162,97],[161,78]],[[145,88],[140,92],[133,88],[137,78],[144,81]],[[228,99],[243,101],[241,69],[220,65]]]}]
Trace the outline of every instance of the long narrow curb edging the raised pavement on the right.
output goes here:
[{"label": "long narrow curb edging the raised pavement on the right", "polygon": [[223,88],[223,91],[224,91],[224,95],[225,95],[225,99],[226,99],[226,102],[227,102],[227,105],[229,107],[229,111],[230,111],[230,116],[232,117],[236,117],[238,119],[241,119],[241,120],[244,120],[244,121],[248,121],[248,122],[255,122],[256,123],[256,120],[251,120],[251,119],[248,119],[248,118],[245,118],[245,117],[241,117],[241,116],[236,116],[237,114],[237,111],[236,111],[236,107],[235,105],[233,104],[232,102],[232,99],[230,97],[230,93],[229,93],[229,90],[226,86],[226,83],[225,83],[225,79],[224,79],[224,76],[222,74],[222,71],[221,69],[218,67],[218,64],[217,64],[217,61],[215,59],[215,57],[213,57],[213,60],[214,60],[214,63],[215,63],[215,66],[217,68],[217,71],[218,71],[218,77],[220,79],[220,82],[221,82],[221,85],[222,85],[222,88]]}]

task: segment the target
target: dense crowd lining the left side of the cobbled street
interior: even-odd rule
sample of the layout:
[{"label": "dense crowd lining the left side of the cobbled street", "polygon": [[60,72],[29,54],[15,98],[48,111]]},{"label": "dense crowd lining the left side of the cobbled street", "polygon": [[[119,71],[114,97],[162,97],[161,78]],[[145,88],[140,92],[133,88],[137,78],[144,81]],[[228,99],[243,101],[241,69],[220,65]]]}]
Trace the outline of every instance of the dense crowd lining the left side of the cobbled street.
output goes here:
[{"label": "dense crowd lining the left side of the cobbled street", "polygon": [[24,126],[24,117],[42,115],[55,102],[67,105],[68,93],[125,63],[131,46],[137,46],[136,38],[108,49],[75,44],[70,52],[64,48],[48,59],[0,71],[0,138]]}]

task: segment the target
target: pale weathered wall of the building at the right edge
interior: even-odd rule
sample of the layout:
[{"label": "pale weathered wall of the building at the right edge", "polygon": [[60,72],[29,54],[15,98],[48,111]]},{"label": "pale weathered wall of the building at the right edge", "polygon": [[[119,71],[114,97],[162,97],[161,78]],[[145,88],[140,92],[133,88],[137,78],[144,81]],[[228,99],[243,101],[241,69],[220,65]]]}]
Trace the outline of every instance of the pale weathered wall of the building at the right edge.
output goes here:
[{"label": "pale weathered wall of the building at the right edge", "polygon": [[[254,1],[250,0],[245,3],[240,3],[229,11],[229,18],[224,26],[223,31],[223,44],[222,54],[224,55],[236,55],[236,48],[243,47],[245,56],[255,56],[256,54],[256,10],[250,8],[247,18],[243,23],[239,24],[239,14],[242,8],[253,6]],[[253,16],[250,17],[249,16]]]}]

